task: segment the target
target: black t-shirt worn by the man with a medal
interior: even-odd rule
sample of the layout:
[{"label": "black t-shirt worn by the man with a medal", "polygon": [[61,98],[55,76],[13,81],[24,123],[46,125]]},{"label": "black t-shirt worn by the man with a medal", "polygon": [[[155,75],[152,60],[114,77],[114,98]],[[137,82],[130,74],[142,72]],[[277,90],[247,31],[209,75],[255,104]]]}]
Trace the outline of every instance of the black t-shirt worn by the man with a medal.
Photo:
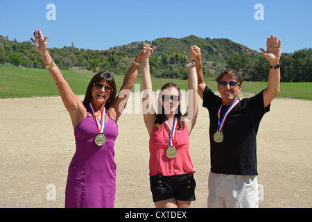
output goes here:
[{"label": "black t-shirt worn by the man with a medal", "polygon": [[[258,175],[257,141],[259,123],[270,105],[263,107],[263,91],[251,98],[242,99],[227,116],[223,126],[223,141],[214,141],[218,130],[218,109],[222,99],[207,86],[203,94],[202,106],[209,111],[209,138],[211,172],[235,175]],[[229,105],[223,105],[220,119]]]}]

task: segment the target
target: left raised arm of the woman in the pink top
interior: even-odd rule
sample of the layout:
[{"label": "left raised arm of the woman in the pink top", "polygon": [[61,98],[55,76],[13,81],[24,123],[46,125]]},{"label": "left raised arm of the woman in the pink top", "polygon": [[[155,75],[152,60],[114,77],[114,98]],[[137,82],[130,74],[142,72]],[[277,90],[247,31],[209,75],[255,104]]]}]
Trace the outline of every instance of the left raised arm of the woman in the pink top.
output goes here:
[{"label": "left raised arm of the woman in the pink top", "polygon": [[153,53],[153,49],[148,46],[146,49],[147,53],[144,59],[142,60],[142,85],[143,85],[143,99],[142,99],[142,111],[144,117],[144,123],[146,129],[148,130],[148,135],[152,133],[153,125],[157,114],[155,113],[153,107],[153,87],[152,79],[150,78],[150,65],[149,58]]}]

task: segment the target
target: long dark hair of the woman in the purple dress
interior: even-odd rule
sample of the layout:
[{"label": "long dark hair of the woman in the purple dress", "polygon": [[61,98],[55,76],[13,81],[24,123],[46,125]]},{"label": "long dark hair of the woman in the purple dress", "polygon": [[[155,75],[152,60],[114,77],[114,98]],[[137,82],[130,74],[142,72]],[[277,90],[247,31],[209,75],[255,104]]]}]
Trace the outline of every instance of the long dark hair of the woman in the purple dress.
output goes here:
[{"label": "long dark hair of the woman in the purple dress", "polygon": [[101,81],[105,80],[110,87],[112,87],[112,91],[110,92],[110,97],[107,99],[105,103],[105,109],[107,110],[110,108],[110,105],[114,102],[116,99],[116,83],[114,80],[114,77],[109,72],[101,72],[93,76],[93,78],[90,80],[90,83],[87,87],[87,91],[85,92],[85,99],[83,99],[83,105],[85,105],[85,108],[89,106],[89,103],[92,100],[92,94],[91,89],[94,86],[94,83],[99,83]]}]

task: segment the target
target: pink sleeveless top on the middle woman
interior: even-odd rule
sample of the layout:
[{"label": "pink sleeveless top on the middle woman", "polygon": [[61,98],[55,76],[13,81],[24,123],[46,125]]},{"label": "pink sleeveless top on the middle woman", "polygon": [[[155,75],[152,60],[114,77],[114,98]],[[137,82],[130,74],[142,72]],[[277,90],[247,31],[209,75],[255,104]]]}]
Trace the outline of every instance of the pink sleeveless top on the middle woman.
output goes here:
[{"label": "pink sleeveless top on the middle woman", "polygon": [[177,130],[175,135],[175,148],[177,156],[169,158],[166,149],[169,143],[169,130],[165,124],[159,130],[153,126],[150,134],[150,176],[162,173],[163,176],[195,173],[191,157],[189,156],[189,131],[184,124],[184,130]]}]

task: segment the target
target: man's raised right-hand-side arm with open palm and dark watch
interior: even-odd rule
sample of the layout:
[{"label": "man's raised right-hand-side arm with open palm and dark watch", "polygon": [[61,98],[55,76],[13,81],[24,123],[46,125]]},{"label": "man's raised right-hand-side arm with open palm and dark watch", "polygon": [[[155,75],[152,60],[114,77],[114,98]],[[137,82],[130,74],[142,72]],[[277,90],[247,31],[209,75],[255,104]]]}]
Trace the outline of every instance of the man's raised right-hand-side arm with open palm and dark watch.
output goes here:
[{"label": "man's raised right-hand-side arm with open palm and dark watch", "polygon": [[[263,56],[270,61],[270,66],[279,65],[279,59],[281,58],[281,40],[277,41],[277,36],[271,35],[266,40],[266,51],[260,49]],[[268,87],[263,91],[263,105],[267,108],[272,102],[275,96],[279,93],[281,80],[281,71],[279,67],[276,69],[270,68],[268,76]]]}]

